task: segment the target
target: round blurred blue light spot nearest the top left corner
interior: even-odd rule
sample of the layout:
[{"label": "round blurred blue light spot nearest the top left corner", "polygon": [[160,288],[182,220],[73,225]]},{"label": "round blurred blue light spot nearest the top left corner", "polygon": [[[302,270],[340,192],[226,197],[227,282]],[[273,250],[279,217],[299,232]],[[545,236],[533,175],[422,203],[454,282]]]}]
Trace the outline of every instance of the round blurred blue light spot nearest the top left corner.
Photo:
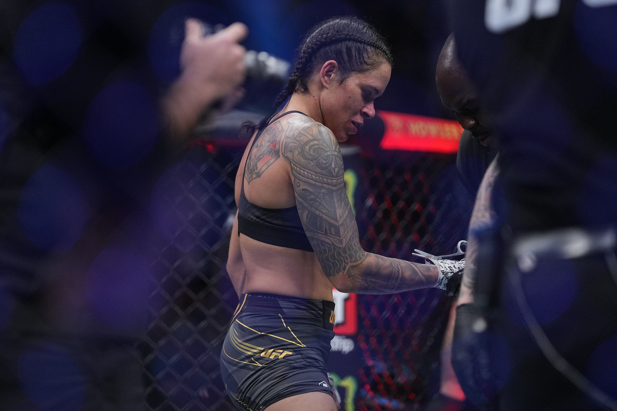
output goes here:
[{"label": "round blurred blue light spot nearest the top left corner", "polygon": [[14,44],[14,59],[24,78],[40,86],[59,78],[81,46],[81,26],[67,4],[44,4],[23,19]]}]

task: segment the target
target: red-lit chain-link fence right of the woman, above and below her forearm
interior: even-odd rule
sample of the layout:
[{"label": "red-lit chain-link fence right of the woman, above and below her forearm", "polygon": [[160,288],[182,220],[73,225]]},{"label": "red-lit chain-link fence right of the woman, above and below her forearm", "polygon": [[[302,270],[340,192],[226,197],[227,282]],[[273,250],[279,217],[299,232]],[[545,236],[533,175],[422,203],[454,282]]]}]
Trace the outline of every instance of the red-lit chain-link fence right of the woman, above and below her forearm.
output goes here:
[{"label": "red-lit chain-link fence right of the woman, above and below her forearm", "polygon": [[[471,198],[455,155],[395,152],[364,159],[368,200],[357,220],[365,250],[408,261],[415,248],[449,254],[466,237]],[[452,299],[432,288],[358,296],[358,343],[365,364],[358,410],[418,409],[439,390],[439,352]]]}]

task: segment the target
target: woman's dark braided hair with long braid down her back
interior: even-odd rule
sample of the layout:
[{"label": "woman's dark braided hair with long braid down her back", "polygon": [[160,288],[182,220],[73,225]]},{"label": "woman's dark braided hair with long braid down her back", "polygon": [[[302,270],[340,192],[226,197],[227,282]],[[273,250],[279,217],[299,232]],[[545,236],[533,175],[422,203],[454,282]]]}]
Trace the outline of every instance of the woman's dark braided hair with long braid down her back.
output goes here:
[{"label": "woman's dark braided hair with long braid down her back", "polygon": [[[294,92],[307,92],[313,71],[328,60],[338,63],[344,83],[352,73],[371,71],[384,62],[392,65],[392,53],[383,36],[364,20],[352,16],[329,18],[313,26],[300,44],[296,63],[285,88],[276,97],[274,110]],[[256,129],[265,128],[273,114],[259,124],[242,124],[240,135],[250,137]]]}]

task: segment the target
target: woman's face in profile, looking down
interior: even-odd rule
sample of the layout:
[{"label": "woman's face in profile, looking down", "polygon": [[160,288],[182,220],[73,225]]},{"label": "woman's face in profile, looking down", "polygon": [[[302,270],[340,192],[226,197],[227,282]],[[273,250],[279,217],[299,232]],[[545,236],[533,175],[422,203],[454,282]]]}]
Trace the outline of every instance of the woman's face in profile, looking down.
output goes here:
[{"label": "woman's face in profile, looking down", "polygon": [[323,124],[334,133],[338,142],[356,134],[366,119],[375,116],[373,102],[386,89],[391,71],[389,63],[384,62],[374,70],[352,73],[342,84],[336,79],[323,93]]}]

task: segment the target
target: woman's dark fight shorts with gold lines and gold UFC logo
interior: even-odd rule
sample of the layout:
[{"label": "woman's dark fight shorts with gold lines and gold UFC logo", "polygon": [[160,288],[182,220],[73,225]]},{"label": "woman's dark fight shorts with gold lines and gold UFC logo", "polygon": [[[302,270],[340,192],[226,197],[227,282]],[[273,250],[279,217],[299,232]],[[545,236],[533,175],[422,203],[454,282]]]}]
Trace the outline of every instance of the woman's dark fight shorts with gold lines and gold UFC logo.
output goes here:
[{"label": "woman's dark fight shorts with gold lines and gold UFC logo", "polygon": [[241,295],[221,352],[232,402],[259,411],[298,394],[332,395],[326,361],[333,328],[333,301]]}]

